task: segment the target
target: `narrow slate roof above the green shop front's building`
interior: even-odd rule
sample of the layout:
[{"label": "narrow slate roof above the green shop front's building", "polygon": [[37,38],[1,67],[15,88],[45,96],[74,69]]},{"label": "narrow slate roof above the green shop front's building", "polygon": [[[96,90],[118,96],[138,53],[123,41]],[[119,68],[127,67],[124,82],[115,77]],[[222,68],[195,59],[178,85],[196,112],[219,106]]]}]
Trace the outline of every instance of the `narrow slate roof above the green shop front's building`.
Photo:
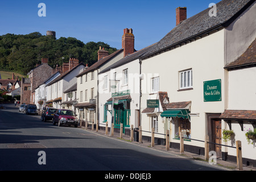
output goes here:
[{"label": "narrow slate roof above the green shop front's building", "polygon": [[113,68],[117,68],[123,64],[126,63],[130,63],[131,61],[135,60],[135,59],[139,59],[139,57],[141,57],[145,52],[147,52],[154,44],[152,44],[151,46],[148,46],[146,48],[143,48],[137,52],[131,53],[130,55],[127,55],[125,57],[123,57],[121,60],[115,62],[114,64],[110,65],[108,68],[105,68],[104,70],[102,70],[100,73],[104,73],[107,71],[110,71],[110,69]]}]

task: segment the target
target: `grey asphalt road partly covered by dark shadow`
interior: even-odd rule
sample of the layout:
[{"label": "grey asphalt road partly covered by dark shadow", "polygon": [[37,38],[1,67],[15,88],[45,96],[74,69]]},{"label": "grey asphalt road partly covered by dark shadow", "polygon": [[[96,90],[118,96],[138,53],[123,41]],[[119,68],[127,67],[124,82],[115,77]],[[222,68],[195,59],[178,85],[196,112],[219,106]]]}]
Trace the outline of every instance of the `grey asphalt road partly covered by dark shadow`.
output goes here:
[{"label": "grey asphalt road partly covered by dark shadow", "polygon": [[4,106],[0,109],[0,171],[223,170],[72,126],[53,126],[40,121],[40,116],[19,113],[14,105]]}]

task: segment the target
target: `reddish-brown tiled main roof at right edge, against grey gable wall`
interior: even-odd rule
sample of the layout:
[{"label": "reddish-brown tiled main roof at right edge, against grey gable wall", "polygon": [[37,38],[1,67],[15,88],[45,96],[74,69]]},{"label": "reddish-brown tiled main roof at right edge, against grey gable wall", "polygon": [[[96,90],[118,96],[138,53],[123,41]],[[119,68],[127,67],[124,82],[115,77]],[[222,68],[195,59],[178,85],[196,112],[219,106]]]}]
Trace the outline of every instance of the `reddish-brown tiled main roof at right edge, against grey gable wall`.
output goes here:
[{"label": "reddish-brown tiled main roof at right edge, against grey gable wall", "polygon": [[256,66],[256,39],[236,61],[227,64],[225,68],[234,69],[250,66]]}]

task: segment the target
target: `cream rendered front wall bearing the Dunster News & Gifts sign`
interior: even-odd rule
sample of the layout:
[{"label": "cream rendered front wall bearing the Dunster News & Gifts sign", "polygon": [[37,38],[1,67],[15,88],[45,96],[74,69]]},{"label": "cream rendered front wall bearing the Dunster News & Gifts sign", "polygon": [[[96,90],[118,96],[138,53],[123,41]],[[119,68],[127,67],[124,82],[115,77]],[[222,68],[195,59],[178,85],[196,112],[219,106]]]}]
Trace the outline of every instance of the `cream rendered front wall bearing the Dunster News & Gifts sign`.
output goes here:
[{"label": "cream rendered front wall bearing the Dunster News & Gifts sign", "polygon": [[[193,90],[179,90],[179,71],[192,68]],[[201,39],[187,43],[157,56],[142,61],[142,73],[147,78],[149,73],[159,74],[159,91],[168,92],[170,102],[192,101],[191,113],[199,113],[199,117],[191,117],[191,136],[193,139],[203,139],[207,133],[206,113],[222,113],[225,109],[225,71],[224,71],[224,30],[214,32]],[[204,102],[203,82],[221,79],[222,101]],[[150,79],[142,80],[142,110],[146,108]],[[168,124],[161,122],[159,128],[166,130]],[[150,131],[150,122],[146,114],[142,114],[142,130]],[[162,131],[163,132],[163,131]],[[150,135],[143,133],[143,135]],[[171,135],[172,136],[172,135]],[[160,136],[159,136],[160,137]],[[163,138],[163,137],[162,137]],[[179,142],[179,140],[172,142]],[[204,147],[203,142],[186,142]]]}]

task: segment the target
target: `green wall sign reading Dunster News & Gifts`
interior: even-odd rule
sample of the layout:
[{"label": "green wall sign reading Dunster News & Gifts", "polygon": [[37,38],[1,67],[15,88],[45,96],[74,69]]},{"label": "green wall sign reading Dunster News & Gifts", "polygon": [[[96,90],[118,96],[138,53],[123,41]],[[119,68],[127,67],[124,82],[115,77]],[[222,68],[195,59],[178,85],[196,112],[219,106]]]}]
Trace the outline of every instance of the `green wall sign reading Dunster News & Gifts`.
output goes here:
[{"label": "green wall sign reading Dunster News & Gifts", "polygon": [[204,102],[221,101],[221,79],[204,81]]}]

